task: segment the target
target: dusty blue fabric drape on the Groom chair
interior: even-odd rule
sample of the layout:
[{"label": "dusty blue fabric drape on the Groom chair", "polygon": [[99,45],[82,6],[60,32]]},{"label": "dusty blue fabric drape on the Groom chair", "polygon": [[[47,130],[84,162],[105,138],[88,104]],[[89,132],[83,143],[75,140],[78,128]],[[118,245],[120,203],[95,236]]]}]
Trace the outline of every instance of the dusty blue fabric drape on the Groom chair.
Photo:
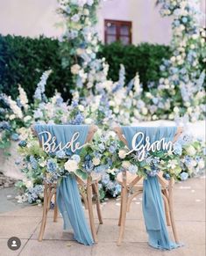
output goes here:
[{"label": "dusty blue fabric drape on the Groom chair", "polygon": [[[122,127],[124,137],[130,150],[132,150],[132,138],[138,132],[142,132],[144,138],[148,136],[150,138],[150,143],[159,141],[162,138],[165,138],[166,142],[173,142],[176,130],[176,127]],[[137,140],[137,143],[139,143],[139,140]],[[143,144],[145,143],[146,141],[143,141]],[[157,176],[148,176],[147,179],[144,179],[142,207],[146,231],[149,236],[149,245],[157,249],[167,250],[179,247],[180,245],[172,242],[168,236],[165,210]]]}]

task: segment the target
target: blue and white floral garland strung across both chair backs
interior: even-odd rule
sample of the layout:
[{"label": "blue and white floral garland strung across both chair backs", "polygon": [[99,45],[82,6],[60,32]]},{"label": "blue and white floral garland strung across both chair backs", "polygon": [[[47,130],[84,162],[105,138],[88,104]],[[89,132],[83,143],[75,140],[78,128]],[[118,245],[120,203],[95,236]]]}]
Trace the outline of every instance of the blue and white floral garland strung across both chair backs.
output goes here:
[{"label": "blue and white floral garland strung across both chair backs", "polygon": [[[75,173],[82,179],[87,179],[91,173],[101,174],[99,190],[103,199],[107,194],[116,197],[120,193],[121,186],[116,177],[123,170],[145,179],[161,171],[165,179],[174,177],[185,180],[189,176],[200,175],[204,168],[203,144],[199,141],[192,142],[188,135],[182,136],[174,144],[173,151],[148,152],[141,162],[137,161],[137,152],[126,155],[127,152],[128,149],[117,140],[114,132],[105,133],[103,130],[98,130],[93,142],[82,149],[80,156],[70,155],[62,150],[46,154],[39,148],[37,138],[29,135],[27,140],[19,143],[25,179],[17,183],[17,187],[24,192],[18,196],[18,201],[39,202],[42,200],[40,186],[43,180],[55,183],[68,173]],[[38,197],[36,189],[39,191]]]}]

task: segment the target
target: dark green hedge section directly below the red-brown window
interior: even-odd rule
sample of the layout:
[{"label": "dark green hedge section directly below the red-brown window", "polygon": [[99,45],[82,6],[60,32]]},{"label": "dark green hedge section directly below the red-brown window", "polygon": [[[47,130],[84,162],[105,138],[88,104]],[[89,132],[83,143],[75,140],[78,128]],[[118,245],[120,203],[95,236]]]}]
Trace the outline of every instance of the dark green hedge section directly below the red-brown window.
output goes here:
[{"label": "dark green hedge section directly below the red-brown window", "polygon": [[119,64],[123,63],[128,83],[136,72],[139,72],[140,81],[146,85],[150,81],[160,78],[160,64],[162,58],[169,58],[171,53],[167,46],[141,43],[138,46],[126,46],[116,42],[102,47],[101,55],[110,63],[109,77],[116,81]]}]

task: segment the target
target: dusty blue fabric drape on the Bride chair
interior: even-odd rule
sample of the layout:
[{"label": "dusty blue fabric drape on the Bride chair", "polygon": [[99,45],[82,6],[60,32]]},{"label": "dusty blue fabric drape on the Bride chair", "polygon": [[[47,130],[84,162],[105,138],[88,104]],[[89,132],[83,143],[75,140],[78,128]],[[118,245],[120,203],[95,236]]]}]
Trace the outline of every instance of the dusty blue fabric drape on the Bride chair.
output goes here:
[{"label": "dusty blue fabric drape on the Bride chair", "polygon": [[[75,132],[80,133],[76,142],[83,145],[89,132],[89,126],[86,125],[35,125],[34,129],[38,134],[43,131],[51,133],[56,137],[56,144],[61,142],[62,146],[71,141]],[[46,141],[46,134],[39,135],[39,140],[42,140],[42,136]],[[79,152],[80,150],[76,150],[75,154]],[[71,152],[71,154],[73,153]],[[94,241],[84,216],[76,179],[72,174],[68,174],[66,178],[60,180],[57,187],[57,205],[63,216],[64,230],[72,227],[76,241],[83,245],[93,245]]]}]

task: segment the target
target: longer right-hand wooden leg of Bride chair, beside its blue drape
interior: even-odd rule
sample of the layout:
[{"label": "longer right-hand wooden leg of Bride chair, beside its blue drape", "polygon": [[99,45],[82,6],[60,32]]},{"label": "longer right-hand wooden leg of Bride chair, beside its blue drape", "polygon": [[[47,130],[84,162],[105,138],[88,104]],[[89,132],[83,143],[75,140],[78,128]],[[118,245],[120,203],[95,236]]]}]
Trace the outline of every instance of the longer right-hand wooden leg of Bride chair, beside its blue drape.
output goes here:
[{"label": "longer right-hand wooden leg of Bride chair, beside its blue drape", "polygon": [[93,214],[93,208],[92,208],[92,187],[91,187],[91,177],[87,180],[87,198],[88,198],[88,209],[89,209],[89,223],[91,228],[91,233],[94,241],[97,243],[97,236],[96,236],[96,225],[95,225],[95,219]]}]

